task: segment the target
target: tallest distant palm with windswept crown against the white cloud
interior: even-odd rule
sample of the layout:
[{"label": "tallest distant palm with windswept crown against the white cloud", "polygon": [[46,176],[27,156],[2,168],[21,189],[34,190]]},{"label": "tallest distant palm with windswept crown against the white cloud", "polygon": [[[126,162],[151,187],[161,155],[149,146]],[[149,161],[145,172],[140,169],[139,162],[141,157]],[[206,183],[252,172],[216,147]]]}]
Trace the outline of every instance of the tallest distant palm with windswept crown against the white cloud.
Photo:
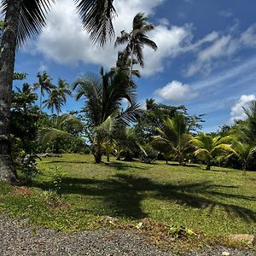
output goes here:
[{"label": "tallest distant palm with windswept crown against the white cloud", "polygon": [[149,23],[148,24],[148,16],[145,16],[142,13],[138,13],[132,23],[132,30],[131,32],[121,32],[121,36],[116,39],[115,46],[119,44],[127,44],[125,50],[126,52],[131,55],[130,61],[130,80],[132,75],[132,66],[134,64],[134,57],[137,57],[137,61],[141,67],[144,66],[143,61],[143,47],[147,45],[152,49],[156,50],[157,45],[148,38],[146,35],[147,32],[150,32],[154,29],[154,25]]}]

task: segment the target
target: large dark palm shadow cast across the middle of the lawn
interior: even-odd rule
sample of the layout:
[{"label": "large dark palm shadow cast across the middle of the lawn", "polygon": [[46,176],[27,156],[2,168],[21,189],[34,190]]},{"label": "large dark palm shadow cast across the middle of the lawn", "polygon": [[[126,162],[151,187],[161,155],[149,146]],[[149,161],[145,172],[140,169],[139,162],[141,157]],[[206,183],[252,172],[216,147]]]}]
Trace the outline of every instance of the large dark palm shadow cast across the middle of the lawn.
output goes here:
[{"label": "large dark palm shadow cast across the middle of the lawn", "polygon": [[[33,183],[40,189],[53,189],[53,183]],[[100,199],[102,207],[95,207],[92,212],[115,217],[140,219],[147,217],[143,212],[144,198],[174,201],[179,205],[205,209],[212,213],[220,207],[231,218],[242,218],[246,222],[256,222],[256,212],[246,207],[225,203],[224,199],[256,201],[255,196],[235,195],[217,192],[216,189],[230,189],[233,186],[205,183],[154,183],[149,178],[126,174],[116,174],[107,180],[63,177],[61,194],[78,194]],[[149,192],[149,193],[148,193]],[[221,201],[222,200],[222,201]],[[102,212],[101,212],[102,211]]]}]

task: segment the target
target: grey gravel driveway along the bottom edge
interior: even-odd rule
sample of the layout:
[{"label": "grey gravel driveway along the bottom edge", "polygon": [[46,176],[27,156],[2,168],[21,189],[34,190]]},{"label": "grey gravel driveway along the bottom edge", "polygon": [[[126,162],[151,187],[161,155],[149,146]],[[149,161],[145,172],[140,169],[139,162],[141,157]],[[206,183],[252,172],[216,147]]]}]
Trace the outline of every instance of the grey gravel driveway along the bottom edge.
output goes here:
[{"label": "grey gravel driveway along the bottom edge", "polygon": [[[190,253],[192,255],[255,256],[256,253],[218,247],[211,252]],[[78,233],[59,233],[47,229],[29,228],[26,221],[6,219],[0,216],[0,255],[60,255],[60,256],[173,256],[160,252],[143,236],[131,231],[94,230]]]}]

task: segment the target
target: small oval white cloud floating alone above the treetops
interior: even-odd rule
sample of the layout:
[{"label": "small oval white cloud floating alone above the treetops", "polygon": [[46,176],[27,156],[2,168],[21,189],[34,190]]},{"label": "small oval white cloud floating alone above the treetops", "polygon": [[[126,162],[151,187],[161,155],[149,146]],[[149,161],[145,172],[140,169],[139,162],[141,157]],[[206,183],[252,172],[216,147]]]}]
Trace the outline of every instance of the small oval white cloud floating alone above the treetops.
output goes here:
[{"label": "small oval white cloud floating alone above the treetops", "polygon": [[155,90],[155,94],[161,99],[171,102],[188,102],[198,95],[188,84],[178,81],[172,81],[163,88]]}]

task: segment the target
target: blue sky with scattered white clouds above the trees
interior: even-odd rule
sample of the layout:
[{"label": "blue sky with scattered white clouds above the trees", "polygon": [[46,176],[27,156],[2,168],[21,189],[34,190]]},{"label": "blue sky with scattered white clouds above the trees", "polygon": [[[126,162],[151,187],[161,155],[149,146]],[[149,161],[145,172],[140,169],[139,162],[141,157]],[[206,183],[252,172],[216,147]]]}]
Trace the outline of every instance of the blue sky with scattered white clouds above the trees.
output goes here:
[{"label": "blue sky with scattered white clouds above the trees", "polygon": [[[137,99],[184,104],[190,114],[205,113],[203,131],[216,131],[243,119],[242,106],[256,99],[256,19],[254,0],[115,0],[116,35],[129,32],[138,12],[149,16],[155,29],[148,35],[158,50],[144,49],[145,67],[137,80]],[[118,49],[90,43],[79,23],[73,1],[56,0],[44,31],[20,48],[15,70],[36,82],[46,70],[73,83],[82,73],[112,67]],[[16,83],[17,84],[17,83]],[[70,98],[63,111],[83,102]]]}]

